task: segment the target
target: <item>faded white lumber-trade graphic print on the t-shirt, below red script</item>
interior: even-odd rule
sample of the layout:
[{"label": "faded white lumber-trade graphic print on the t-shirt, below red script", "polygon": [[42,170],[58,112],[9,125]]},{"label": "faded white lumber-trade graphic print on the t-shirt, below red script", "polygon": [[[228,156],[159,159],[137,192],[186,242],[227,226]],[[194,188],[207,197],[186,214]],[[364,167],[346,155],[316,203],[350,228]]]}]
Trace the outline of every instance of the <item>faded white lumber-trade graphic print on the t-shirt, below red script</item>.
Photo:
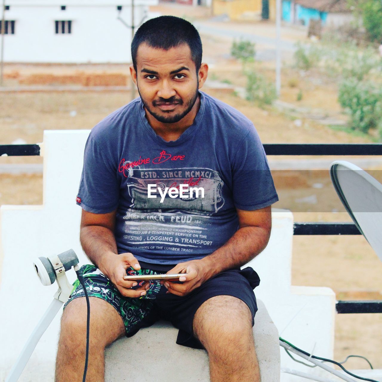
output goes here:
[{"label": "faded white lumber-trade graphic print on the t-shirt, below red script", "polygon": [[[210,218],[224,205],[223,181],[219,172],[211,168],[140,168],[128,165],[126,184],[131,205],[125,220],[126,243],[148,250],[191,252],[193,249],[209,247],[213,239],[209,236]],[[163,165],[162,165],[163,166]],[[126,176],[127,175],[127,176]],[[166,195],[161,203],[159,192],[156,198],[147,197],[149,184],[165,190],[166,187],[203,188],[204,197],[175,197]]]}]

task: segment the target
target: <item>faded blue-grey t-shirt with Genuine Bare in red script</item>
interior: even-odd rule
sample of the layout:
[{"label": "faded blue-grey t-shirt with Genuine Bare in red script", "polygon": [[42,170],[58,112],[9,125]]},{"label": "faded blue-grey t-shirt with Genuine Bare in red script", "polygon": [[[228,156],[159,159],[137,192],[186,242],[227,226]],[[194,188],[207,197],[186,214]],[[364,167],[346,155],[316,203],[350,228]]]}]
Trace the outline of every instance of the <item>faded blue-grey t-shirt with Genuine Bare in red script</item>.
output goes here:
[{"label": "faded blue-grey t-shirt with Genuine Bare in red script", "polygon": [[[77,204],[95,214],[117,210],[118,253],[139,261],[178,264],[201,259],[238,229],[236,208],[256,210],[278,200],[263,146],[251,121],[199,92],[194,123],[176,141],[151,128],[141,99],[116,110],[86,142]],[[147,197],[148,185],[204,189]],[[161,202],[163,199],[163,202]]]}]

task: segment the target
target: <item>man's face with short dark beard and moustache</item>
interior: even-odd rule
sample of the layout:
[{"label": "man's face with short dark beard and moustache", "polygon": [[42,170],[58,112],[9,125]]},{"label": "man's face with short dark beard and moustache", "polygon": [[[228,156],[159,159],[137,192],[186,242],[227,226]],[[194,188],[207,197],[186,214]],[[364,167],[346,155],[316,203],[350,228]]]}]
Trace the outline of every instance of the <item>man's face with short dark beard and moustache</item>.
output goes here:
[{"label": "man's face with short dark beard and moustache", "polygon": [[141,44],[136,65],[137,72],[130,71],[133,79],[136,75],[139,95],[153,117],[176,123],[189,113],[197,99],[199,78],[187,44],[169,50]]}]

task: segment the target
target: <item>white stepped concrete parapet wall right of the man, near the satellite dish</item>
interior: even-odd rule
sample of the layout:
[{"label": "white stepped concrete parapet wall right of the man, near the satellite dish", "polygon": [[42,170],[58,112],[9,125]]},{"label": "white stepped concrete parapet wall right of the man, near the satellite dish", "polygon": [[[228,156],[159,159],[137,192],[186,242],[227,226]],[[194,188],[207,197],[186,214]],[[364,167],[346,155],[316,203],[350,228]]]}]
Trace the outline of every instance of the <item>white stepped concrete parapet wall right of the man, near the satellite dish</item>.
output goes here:
[{"label": "white stepped concrete parapet wall right of the man, near the satellite dish", "polygon": [[[249,262],[261,279],[255,289],[256,296],[264,301],[280,337],[305,351],[314,348],[316,355],[333,359],[335,293],[325,287],[291,286],[292,239],[293,215],[289,211],[273,210],[269,244]],[[293,361],[284,350],[281,350],[281,366],[312,372]],[[319,368],[314,369],[314,374],[328,376]],[[282,382],[300,380],[288,374],[281,376]]]}]

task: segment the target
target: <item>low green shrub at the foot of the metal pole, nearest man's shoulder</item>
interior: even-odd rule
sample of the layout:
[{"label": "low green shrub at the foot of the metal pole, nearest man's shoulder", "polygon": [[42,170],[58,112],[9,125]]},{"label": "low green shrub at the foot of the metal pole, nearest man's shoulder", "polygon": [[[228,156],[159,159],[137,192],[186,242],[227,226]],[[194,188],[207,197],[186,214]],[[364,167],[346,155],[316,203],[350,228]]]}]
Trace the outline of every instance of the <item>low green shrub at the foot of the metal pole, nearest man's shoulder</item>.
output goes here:
[{"label": "low green shrub at the foot of the metal pole, nearest man's shoulder", "polygon": [[267,81],[261,74],[254,71],[246,73],[246,99],[256,102],[260,107],[271,105],[277,99],[276,88],[274,84]]}]

